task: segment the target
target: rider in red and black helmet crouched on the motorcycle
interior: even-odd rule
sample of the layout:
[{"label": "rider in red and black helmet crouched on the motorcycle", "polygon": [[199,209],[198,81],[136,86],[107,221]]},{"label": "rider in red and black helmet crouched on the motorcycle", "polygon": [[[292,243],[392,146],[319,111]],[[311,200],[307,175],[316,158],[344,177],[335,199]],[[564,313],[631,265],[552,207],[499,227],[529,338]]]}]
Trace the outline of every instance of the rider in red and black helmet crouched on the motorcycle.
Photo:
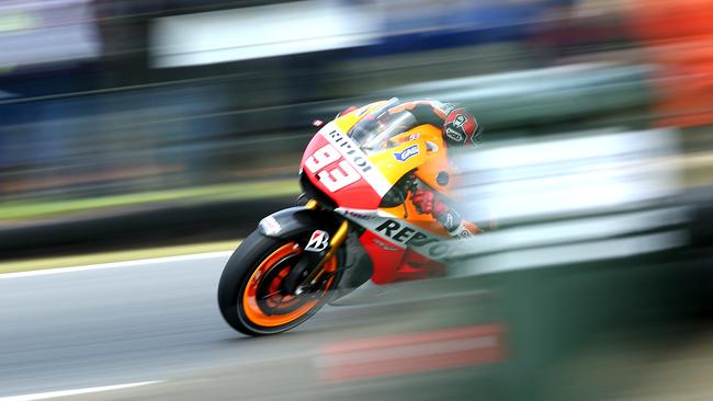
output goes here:
[{"label": "rider in red and black helmet crouched on the motorcycle", "polygon": [[[339,116],[354,110],[355,106],[349,107]],[[443,140],[449,147],[469,147],[480,141],[483,129],[473,114],[454,104],[423,100],[400,103],[388,110],[392,117],[396,117],[399,113],[411,113],[416,117],[416,125],[430,124],[440,127]],[[412,193],[411,202],[416,210],[432,215],[452,237],[467,238],[483,232],[482,228],[465,220],[441,199],[435,191],[418,188]]]}]

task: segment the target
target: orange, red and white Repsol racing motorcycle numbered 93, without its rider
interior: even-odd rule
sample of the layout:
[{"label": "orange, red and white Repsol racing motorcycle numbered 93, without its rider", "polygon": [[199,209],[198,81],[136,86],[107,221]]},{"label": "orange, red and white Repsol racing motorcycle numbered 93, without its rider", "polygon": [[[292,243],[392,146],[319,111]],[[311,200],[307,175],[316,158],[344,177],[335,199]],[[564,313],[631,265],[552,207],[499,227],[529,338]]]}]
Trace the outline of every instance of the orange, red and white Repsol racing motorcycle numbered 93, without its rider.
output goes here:
[{"label": "orange, red and white Repsol racing motorcycle numbered 93, without its rider", "polygon": [[440,127],[392,116],[397,99],[338,116],[302,158],[299,206],[263,218],[218,285],[225,320],[249,335],[287,331],[365,285],[442,275],[454,240],[410,196],[454,185]]}]

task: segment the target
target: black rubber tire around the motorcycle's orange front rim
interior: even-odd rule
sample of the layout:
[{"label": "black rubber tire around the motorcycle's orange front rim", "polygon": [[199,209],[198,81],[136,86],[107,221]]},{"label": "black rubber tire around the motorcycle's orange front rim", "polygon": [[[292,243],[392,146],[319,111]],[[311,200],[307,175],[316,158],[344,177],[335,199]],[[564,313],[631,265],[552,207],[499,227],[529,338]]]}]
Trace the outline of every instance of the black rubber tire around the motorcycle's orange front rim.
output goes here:
[{"label": "black rubber tire around the motorcycle's orange front rim", "polygon": [[[315,314],[332,296],[333,288],[339,282],[340,274],[333,277],[329,290],[319,299],[319,301],[298,319],[276,326],[264,326],[251,321],[246,314],[242,296],[246,291],[248,282],[260,264],[281,247],[291,242],[304,242],[305,234],[295,236],[294,238],[275,239],[265,237],[258,231],[253,231],[246,238],[238,249],[228,260],[220,282],[218,284],[218,306],[225,321],[235,330],[253,336],[278,334],[291,330]],[[343,252],[340,250],[337,257],[337,270],[339,272],[340,262],[343,260]]]}]

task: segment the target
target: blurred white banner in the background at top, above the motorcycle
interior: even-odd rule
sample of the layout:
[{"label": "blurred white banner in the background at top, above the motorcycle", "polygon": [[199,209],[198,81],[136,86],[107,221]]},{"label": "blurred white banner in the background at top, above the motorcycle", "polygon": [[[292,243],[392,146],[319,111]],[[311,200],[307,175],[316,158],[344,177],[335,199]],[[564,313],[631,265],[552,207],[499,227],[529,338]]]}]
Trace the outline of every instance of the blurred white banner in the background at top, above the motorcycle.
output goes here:
[{"label": "blurred white banner in the background at top, above the motorcycle", "polygon": [[238,61],[371,44],[378,28],[367,10],[303,1],[158,19],[157,67]]}]

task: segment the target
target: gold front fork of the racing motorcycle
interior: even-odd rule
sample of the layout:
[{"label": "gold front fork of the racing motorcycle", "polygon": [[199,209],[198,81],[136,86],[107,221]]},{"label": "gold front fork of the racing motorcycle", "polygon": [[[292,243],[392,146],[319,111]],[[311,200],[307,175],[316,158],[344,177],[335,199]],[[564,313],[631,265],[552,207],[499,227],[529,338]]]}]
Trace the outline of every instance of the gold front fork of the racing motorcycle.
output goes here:
[{"label": "gold front fork of the racing motorcycle", "polygon": [[[315,209],[317,207],[317,202],[312,199],[307,202],[305,207],[308,209]],[[301,295],[315,284],[319,283],[319,279],[325,274],[325,270],[322,268],[325,263],[329,261],[329,259],[335,257],[339,248],[347,240],[348,233],[349,220],[344,219],[337,231],[331,236],[329,245],[324,251],[303,252],[297,264],[295,264],[290,274],[284,278],[282,285],[283,290],[285,290],[286,294]]]}]

